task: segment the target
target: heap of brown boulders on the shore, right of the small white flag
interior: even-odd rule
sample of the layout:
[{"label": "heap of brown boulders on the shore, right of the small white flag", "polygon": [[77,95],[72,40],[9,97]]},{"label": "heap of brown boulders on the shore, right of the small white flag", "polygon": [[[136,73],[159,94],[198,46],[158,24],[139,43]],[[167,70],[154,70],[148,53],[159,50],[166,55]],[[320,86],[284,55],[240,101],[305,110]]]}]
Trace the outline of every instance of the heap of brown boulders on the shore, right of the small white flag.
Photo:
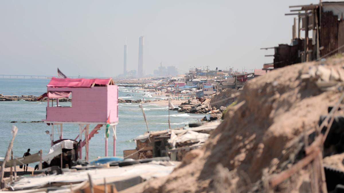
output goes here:
[{"label": "heap of brown boulders on the shore, right of the small white flag", "polygon": [[178,106],[180,108],[178,112],[195,114],[208,113],[212,110],[209,101],[210,99],[205,99],[202,102],[198,99],[189,99],[187,102],[184,102]]}]

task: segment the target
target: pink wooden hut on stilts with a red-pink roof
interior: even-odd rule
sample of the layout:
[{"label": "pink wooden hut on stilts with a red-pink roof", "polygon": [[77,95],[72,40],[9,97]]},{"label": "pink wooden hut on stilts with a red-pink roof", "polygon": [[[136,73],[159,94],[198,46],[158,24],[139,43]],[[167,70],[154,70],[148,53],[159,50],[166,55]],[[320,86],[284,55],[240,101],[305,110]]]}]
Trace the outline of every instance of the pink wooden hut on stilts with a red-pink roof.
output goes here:
[{"label": "pink wooden hut on stilts with a red-pink roof", "polygon": [[[118,87],[111,78],[55,78],[47,84],[47,92],[37,98],[48,98],[46,119],[52,125],[51,145],[54,142],[54,127],[60,130],[60,139],[63,139],[63,124],[75,123],[79,125],[79,135],[75,140],[80,141],[80,159],[82,147],[86,145],[86,160],[88,160],[88,141],[103,125],[110,124],[114,139],[114,156],[116,156],[116,125],[118,123]],[[58,104],[58,99],[72,98],[71,106]],[[56,102],[55,102],[56,101]],[[54,104],[55,103],[55,104]],[[89,133],[89,125],[97,126]],[[60,127],[60,128],[59,128]],[[105,128],[105,127],[104,127]],[[104,129],[105,130],[105,129]],[[105,156],[108,156],[108,140],[105,137]]]}]

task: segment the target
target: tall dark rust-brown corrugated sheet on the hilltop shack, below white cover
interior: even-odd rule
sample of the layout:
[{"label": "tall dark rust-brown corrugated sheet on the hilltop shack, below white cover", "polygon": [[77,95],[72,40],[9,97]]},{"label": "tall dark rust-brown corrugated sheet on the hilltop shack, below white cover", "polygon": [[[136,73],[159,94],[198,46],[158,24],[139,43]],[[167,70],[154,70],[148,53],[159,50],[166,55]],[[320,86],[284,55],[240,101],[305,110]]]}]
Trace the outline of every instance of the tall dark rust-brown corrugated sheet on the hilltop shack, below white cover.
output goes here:
[{"label": "tall dark rust-brown corrugated sheet on the hilltop shack, below white cover", "polygon": [[[320,56],[330,56],[331,53],[338,48],[338,16],[333,15],[332,11],[321,13],[321,29],[320,29]],[[330,54],[331,53],[331,54]]]}]

